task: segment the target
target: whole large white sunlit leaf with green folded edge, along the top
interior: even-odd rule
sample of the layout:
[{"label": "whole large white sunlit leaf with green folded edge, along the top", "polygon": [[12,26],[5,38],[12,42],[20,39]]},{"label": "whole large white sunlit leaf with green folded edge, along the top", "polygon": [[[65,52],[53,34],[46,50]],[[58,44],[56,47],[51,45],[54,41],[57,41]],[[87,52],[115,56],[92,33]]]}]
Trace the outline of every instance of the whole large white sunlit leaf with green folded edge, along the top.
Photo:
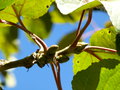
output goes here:
[{"label": "whole large white sunlit leaf with green folded edge, along the top", "polygon": [[84,10],[96,7],[101,3],[109,14],[113,25],[117,28],[116,30],[120,29],[120,10],[117,10],[120,0],[56,0],[56,3],[63,14],[69,14],[78,8]]}]

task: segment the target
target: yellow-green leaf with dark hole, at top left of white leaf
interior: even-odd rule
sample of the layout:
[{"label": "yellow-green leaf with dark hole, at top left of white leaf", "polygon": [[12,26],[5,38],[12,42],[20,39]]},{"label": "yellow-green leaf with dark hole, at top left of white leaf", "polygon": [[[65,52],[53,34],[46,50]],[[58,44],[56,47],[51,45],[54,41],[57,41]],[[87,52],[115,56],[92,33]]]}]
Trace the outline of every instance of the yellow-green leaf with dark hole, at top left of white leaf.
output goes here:
[{"label": "yellow-green leaf with dark hole, at top left of white leaf", "polygon": [[39,18],[47,13],[54,0],[17,0],[15,8],[23,17]]}]

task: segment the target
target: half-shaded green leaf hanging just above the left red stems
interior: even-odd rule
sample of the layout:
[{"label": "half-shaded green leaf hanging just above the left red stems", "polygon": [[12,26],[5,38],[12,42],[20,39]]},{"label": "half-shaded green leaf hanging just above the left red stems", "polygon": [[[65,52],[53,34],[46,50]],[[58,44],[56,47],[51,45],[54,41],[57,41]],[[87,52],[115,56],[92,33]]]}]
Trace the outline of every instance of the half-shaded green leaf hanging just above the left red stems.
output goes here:
[{"label": "half-shaded green leaf hanging just above the left red stems", "polygon": [[23,23],[28,30],[37,34],[40,38],[46,38],[52,28],[52,22],[48,13],[38,19],[24,18]]}]

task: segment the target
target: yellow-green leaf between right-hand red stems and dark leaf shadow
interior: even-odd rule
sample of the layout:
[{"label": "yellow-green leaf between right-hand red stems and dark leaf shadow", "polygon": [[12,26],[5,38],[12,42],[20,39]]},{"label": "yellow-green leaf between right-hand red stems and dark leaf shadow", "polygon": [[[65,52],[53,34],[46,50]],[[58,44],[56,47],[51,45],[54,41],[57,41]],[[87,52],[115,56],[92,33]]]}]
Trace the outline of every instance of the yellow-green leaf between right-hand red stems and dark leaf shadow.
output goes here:
[{"label": "yellow-green leaf between right-hand red stems and dark leaf shadow", "polygon": [[[120,60],[120,56],[117,53],[106,53],[105,51],[94,52],[101,59],[117,59]],[[87,52],[75,54],[73,59],[73,72],[76,74],[81,70],[87,69],[92,63],[98,62],[99,60]]]}]

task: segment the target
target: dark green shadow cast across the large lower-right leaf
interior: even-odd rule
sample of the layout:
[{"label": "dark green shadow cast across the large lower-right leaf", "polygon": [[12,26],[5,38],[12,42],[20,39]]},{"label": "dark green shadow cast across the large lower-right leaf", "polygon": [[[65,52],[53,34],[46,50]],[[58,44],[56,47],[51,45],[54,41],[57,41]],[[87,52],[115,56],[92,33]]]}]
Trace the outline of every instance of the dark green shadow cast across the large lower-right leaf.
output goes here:
[{"label": "dark green shadow cast across the large lower-right leaf", "polygon": [[[92,64],[86,70],[78,72],[72,81],[73,90],[98,90],[98,84],[100,82],[101,72],[104,72],[105,68],[108,70],[108,73],[111,73],[110,70],[114,70],[115,67],[120,63],[120,61],[115,59],[102,60],[98,63]],[[104,75],[105,76],[105,75]],[[104,86],[104,85],[101,85]]]}]

